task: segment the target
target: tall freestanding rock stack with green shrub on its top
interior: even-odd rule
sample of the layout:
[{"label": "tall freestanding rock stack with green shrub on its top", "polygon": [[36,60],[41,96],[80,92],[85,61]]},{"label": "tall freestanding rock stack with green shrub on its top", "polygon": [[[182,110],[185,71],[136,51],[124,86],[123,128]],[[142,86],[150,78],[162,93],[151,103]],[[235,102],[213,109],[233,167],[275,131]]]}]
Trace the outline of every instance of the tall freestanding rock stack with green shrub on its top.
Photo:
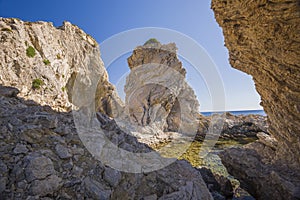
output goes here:
[{"label": "tall freestanding rock stack with green shrub on its top", "polygon": [[131,124],[147,127],[143,132],[195,135],[198,130],[199,103],[176,52],[175,43],[146,42],[128,58],[125,113]]}]

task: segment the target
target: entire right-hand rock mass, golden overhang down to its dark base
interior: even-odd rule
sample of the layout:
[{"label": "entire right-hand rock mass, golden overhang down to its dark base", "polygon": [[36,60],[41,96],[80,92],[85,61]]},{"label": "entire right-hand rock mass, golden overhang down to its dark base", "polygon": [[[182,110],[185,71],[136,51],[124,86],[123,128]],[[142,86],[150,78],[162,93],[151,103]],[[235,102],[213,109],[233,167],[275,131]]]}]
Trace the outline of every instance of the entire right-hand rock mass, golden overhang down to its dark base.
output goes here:
[{"label": "entire right-hand rock mass, golden overhang down to its dark base", "polygon": [[231,65],[253,76],[269,118],[268,131],[278,141],[276,147],[262,142],[239,153],[228,150],[223,162],[258,199],[299,199],[299,1],[213,0],[212,9]]}]

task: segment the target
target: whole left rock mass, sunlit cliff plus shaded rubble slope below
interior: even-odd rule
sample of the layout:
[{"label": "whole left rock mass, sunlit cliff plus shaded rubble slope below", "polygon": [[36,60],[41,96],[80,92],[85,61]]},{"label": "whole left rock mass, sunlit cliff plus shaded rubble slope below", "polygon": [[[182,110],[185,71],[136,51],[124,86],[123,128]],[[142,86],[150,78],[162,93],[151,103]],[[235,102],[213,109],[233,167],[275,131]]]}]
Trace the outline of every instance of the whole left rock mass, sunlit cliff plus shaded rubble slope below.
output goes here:
[{"label": "whole left rock mass, sunlit cliff plus shaded rubble slope below", "polygon": [[126,173],[88,151],[76,112],[62,112],[74,103],[83,112],[96,106],[92,121],[107,144],[153,151],[108,116],[120,102],[90,36],[68,22],[55,28],[1,18],[0,26],[0,199],[212,199],[200,172],[186,161]]}]

